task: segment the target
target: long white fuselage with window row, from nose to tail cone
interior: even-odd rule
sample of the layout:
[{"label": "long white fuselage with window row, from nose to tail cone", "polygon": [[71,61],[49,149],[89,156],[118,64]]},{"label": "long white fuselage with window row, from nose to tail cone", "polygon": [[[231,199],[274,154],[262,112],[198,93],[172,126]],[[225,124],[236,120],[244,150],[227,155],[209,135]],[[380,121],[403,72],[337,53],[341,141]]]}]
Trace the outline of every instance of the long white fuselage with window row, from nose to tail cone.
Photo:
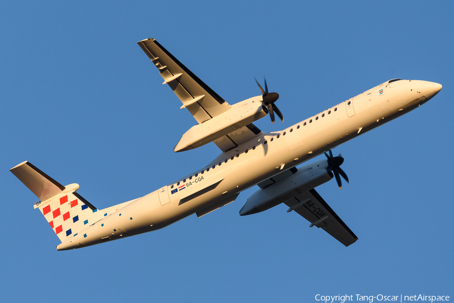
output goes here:
[{"label": "long white fuselage with window row, from nose to tail cone", "polygon": [[208,213],[234,201],[241,191],[409,112],[440,89],[440,84],[427,81],[387,81],[285,130],[261,133],[104,217],[57,249],[94,245]]}]

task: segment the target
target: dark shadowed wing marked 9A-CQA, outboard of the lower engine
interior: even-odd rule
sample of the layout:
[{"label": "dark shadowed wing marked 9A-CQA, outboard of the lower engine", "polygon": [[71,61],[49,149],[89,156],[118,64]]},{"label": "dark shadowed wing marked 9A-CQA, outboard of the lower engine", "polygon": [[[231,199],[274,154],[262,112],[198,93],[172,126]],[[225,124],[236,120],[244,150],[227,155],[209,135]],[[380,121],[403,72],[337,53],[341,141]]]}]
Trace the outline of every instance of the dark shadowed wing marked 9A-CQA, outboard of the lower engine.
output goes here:
[{"label": "dark shadowed wing marked 9A-CQA, outboard of the lower engine", "polygon": [[314,189],[284,203],[290,207],[289,210],[296,211],[311,222],[311,225],[323,228],[343,245],[349,246],[358,240],[352,230]]}]

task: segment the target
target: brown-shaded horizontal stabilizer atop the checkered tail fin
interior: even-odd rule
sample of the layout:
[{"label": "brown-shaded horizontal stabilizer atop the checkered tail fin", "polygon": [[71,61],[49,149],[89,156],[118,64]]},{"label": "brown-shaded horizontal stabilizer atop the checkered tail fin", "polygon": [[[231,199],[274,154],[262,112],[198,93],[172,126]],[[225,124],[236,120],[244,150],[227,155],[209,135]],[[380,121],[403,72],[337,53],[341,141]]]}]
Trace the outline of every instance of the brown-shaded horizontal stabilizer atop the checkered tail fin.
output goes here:
[{"label": "brown-shaded horizontal stabilizer atop the checkered tail fin", "polygon": [[10,170],[41,201],[50,199],[65,190],[63,185],[28,161],[22,162]]}]

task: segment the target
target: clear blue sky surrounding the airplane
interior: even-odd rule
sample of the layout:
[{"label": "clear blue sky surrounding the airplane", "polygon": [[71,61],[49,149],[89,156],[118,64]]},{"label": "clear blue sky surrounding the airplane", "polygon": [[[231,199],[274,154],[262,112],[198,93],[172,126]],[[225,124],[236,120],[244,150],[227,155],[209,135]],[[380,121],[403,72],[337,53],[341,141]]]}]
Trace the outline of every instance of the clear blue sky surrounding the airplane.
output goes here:
[{"label": "clear blue sky surrounding the airplane", "polygon": [[[9,2],[0,9],[1,301],[316,302],[450,295],[451,2]],[[59,239],[9,169],[28,160],[98,208],[215,158],[174,153],[196,122],[136,44],[153,37],[231,104],[279,93],[285,123],[393,78],[432,100],[334,149],[350,184],[317,188],[359,240],[345,248],[280,205],[240,217],[257,188],[202,218],[85,249]],[[319,159],[322,159],[320,157]]]}]

